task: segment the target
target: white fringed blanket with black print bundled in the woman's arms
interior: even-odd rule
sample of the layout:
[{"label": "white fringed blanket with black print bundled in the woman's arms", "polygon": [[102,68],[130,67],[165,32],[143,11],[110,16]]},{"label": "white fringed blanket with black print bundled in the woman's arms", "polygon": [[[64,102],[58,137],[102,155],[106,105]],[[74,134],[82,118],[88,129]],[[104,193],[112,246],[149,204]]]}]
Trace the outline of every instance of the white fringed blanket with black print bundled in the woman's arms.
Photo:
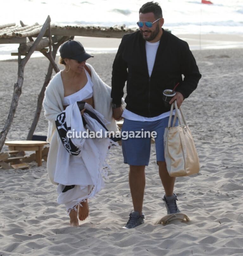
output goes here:
[{"label": "white fringed blanket with black print bundled in the woman's arms", "polygon": [[[97,119],[93,118],[88,113],[84,113],[83,118],[86,121],[86,126],[84,127],[78,104],[75,102],[62,112],[63,115],[65,114],[65,118],[59,119],[59,129],[66,130],[66,126],[70,128],[70,131],[84,132],[88,129],[93,132],[102,131],[102,134],[104,134],[106,129],[98,120],[103,124],[106,124],[106,120],[104,120],[103,116],[98,111],[94,110],[91,105],[85,103],[84,107],[86,110],[92,112]],[[66,135],[66,131],[64,131],[64,134]],[[63,135],[62,132],[61,135]],[[70,213],[80,202],[94,197],[105,187],[102,176],[107,177],[108,165],[106,164],[106,155],[109,151],[109,146],[113,144],[113,142],[106,137],[71,138],[72,144],[78,149],[76,153],[80,151],[78,155],[72,155],[63,146],[60,140],[61,139],[58,138],[58,161],[56,162],[54,182],[59,184],[57,186],[58,204],[65,204],[67,212]],[[64,141],[70,142],[66,136]],[[74,152],[75,150],[73,153]],[[75,187],[66,192],[62,192],[66,185],[75,185]]]}]

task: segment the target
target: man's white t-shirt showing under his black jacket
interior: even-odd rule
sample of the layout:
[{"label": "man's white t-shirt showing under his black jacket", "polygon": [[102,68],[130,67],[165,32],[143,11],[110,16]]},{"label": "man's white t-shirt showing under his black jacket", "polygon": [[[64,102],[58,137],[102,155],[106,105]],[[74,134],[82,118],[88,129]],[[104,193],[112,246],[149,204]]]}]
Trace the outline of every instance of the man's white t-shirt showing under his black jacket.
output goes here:
[{"label": "man's white t-shirt showing under his black jacket", "polygon": [[[157,53],[160,41],[158,41],[156,43],[150,43],[150,42],[146,41],[145,43],[146,43],[145,49],[146,49],[148,71],[149,71],[149,76],[151,76],[153,67],[154,67],[156,53]],[[125,109],[122,113],[122,117],[126,118],[128,120],[133,120],[133,121],[157,121],[159,119],[169,116],[169,113],[170,112],[165,112],[165,113],[155,116],[155,117],[144,117],[144,116],[135,114],[135,113]]]}]

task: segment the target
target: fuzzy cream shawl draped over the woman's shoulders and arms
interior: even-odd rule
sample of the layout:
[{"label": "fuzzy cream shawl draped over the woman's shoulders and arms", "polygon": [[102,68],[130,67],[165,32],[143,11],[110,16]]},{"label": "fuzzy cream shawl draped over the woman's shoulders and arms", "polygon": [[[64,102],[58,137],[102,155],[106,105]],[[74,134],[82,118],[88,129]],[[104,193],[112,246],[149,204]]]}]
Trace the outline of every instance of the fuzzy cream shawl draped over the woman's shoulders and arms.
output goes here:
[{"label": "fuzzy cream shawl draped over the woman's shoulders and arms", "polygon": [[[93,67],[86,63],[86,66],[91,71],[91,80],[93,82],[93,99],[94,99],[94,109],[101,113],[104,118],[110,122],[106,127],[109,131],[118,131],[116,121],[112,117],[112,98],[111,98],[111,87],[104,83],[99,75],[95,72]],[[63,109],[63,98],[64,98],[64,88],[61,79],[61,71],[58,72],[50,81],[46,88],[45,98],[43,101],[44,114],[48,119],[48,135],[47,141],[50,143],[50,149],[47,159],[47,170],[50,181],[53,184],[54,174],[56,168],[57,152],[58,152],[58,140],[57,140],[57,129],[55,125],[55,120],[58,114],[60,114]],[[124,105],[123,100],[123,105]]]}]

